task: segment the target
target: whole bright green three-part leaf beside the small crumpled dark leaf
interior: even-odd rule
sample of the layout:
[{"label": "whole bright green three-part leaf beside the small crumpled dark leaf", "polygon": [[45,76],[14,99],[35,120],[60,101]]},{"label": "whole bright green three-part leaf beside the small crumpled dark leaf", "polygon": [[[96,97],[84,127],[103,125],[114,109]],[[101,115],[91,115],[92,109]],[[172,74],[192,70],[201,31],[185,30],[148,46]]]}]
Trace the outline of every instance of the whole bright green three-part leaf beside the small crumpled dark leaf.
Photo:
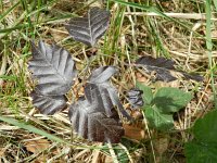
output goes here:
[{"label": "whole bright green three-part leaf beside the small crumpled dark leaf", "polygon": [[167,131],[174,128],[173,114],[183,109],[192,99],[192,95],[177,88],[163,87],[152,92],[152,89],[140,83],[137,88],[142,90],[145,118],[150,127]]}]

